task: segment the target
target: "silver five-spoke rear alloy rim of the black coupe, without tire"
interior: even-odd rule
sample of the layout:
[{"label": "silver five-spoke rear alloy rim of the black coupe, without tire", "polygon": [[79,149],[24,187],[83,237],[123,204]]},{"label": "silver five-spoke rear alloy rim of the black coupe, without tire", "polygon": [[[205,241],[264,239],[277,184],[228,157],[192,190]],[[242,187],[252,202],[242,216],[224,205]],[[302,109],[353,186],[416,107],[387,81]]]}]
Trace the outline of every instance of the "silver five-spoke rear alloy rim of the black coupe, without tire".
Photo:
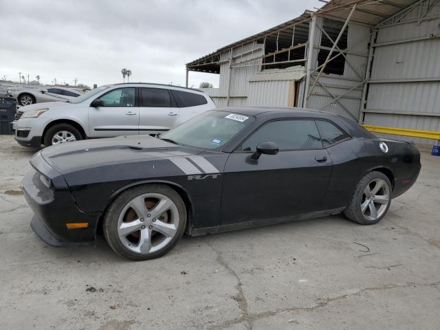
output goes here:
[{"label": "silver five-spoke rear alloy rim of the black coupe, without tire", "polygon": [[384,214],[390,201],[390,189],[383,179],[374,179],[362,193],[360,210],[365,219],[374,221]]}]

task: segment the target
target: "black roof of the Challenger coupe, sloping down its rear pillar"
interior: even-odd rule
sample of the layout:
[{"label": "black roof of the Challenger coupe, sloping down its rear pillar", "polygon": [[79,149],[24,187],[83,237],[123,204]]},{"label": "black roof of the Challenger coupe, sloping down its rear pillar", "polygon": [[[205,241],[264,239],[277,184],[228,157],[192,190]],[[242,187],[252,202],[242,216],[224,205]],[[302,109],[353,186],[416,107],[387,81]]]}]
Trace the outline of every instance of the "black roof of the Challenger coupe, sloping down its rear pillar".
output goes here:
[{"label": "black roof of the Challenger coupe, sloping down its rear pillar", "polygon": [[318,118],[333,122],[352,137],[375,138],[375,135],[364,129],[357,122],[327,111],[294,107],[224,107],[213,109],[213,111],[252,115],[262,122],[278,118]]}]

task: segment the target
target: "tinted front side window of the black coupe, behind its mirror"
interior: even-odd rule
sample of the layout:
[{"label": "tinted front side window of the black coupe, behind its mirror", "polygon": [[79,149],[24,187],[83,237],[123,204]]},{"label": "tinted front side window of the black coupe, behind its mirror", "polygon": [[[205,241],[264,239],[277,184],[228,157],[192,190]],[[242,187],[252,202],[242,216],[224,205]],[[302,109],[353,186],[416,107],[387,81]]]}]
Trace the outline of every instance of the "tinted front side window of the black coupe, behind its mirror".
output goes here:
[{"label": "tinted front side window of the black coupe, behind its mirror", "polygon": [[239,151],[256,151],[261,142],[274,142],[280,151],[322,148],[314,120],[277,120],[261,126],[239,147]]}]

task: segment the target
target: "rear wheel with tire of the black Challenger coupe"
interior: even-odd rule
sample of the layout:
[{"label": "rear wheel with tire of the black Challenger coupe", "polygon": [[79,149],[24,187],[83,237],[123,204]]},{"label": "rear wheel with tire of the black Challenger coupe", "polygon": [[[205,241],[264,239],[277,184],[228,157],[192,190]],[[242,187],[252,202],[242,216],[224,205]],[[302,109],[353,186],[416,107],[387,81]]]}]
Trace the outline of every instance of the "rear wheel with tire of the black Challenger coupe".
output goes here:
[{"label": "rear wheel with tire of the black Challenger coupe", "polygon": [[[380,188],[376,192],[377,184]],[[344,210],[345,216],[362,225],[378,223],[390,208],[392,191],[391,182],[384,173],[367,173],[356,186],[349,206]]]}]

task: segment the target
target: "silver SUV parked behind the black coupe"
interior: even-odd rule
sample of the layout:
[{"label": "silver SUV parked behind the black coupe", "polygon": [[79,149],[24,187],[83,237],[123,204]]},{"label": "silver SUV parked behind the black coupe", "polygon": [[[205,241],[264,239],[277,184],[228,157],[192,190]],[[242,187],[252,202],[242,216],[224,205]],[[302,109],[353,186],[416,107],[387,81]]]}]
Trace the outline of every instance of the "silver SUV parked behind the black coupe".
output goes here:
[{"label": "silver SUV parked behind the black coupe", "polygon": [[69,102],[32,104],[17,112],[13,129],[22,146],[168,131],[215,108],[208,94],[155,84],[98,87]]}]

